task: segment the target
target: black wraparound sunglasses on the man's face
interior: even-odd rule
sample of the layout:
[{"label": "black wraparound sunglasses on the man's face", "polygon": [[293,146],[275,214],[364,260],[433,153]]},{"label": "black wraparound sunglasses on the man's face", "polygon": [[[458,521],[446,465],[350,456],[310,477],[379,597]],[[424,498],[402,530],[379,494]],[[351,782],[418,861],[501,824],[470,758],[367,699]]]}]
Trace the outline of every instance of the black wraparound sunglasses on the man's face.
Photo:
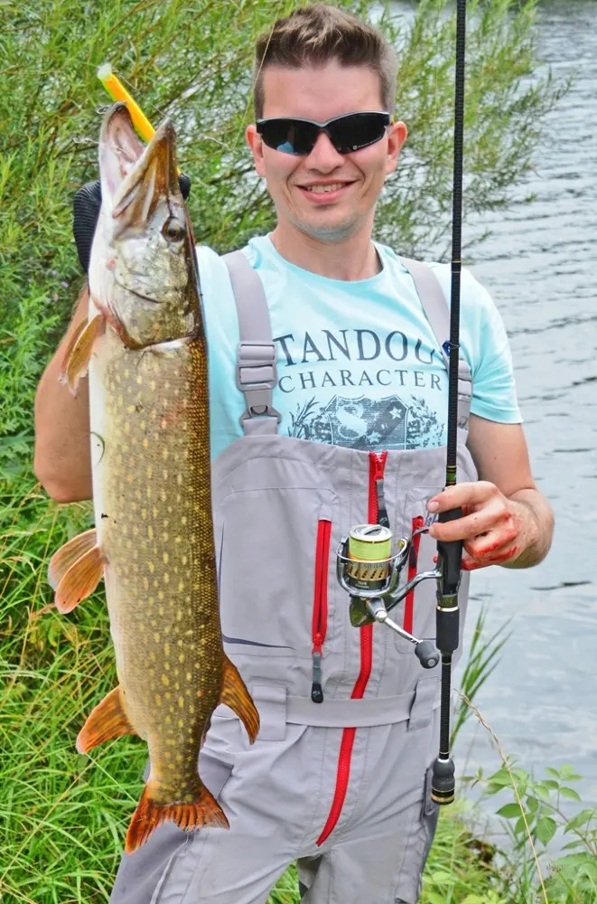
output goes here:
[{"label": "black wraparound sunglasses on the man's face", "polygon": [[339,154],[351,154],[380,141],[390,122],[389,113],[370,111],[345,113],[327,122],[273,117],[257,119],[257,132],[268,147],[294,155],[311,154],[320,132],[325,132]]}]

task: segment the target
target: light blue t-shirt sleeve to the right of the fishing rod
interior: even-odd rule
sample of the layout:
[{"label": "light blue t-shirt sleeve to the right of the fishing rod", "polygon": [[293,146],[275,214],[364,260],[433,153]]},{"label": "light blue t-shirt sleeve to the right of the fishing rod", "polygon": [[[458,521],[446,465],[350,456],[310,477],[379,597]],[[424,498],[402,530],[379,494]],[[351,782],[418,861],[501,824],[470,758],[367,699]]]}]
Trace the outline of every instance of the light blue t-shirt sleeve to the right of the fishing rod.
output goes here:
[{"label": "light blue t-shirt sleeve to the right of the fishing rod", "polygon": [[[463,277],[466,271],[463,271]],[[503,424],[520,424],[508,335],[490,293],[466,272],[472,372],[471,414]],[[464,287],[463,287],[464,288]],[[467,320],[469,317],[467,317]]]}]

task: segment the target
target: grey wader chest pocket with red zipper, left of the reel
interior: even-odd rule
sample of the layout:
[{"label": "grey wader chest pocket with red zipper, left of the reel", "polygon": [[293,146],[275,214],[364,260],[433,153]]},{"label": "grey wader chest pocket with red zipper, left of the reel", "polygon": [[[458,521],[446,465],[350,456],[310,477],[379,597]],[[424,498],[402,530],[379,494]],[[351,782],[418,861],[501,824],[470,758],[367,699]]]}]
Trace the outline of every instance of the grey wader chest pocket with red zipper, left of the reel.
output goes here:
[{"label": "grey wader chest pocket with red zipper, left of the reel", "polygon": [[331,491],[311,486],[238,490],[222,500],[217,554],[229,654],[311,660],[314,617],[324,651],[331,649],[337,503]]}]

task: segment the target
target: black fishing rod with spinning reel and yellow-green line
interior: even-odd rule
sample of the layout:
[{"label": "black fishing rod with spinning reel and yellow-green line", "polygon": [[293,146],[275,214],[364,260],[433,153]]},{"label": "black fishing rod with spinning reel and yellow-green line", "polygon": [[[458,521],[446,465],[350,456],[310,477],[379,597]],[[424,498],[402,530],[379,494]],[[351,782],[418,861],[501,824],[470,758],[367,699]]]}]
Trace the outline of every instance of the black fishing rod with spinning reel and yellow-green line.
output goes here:
[{"label": "black fishing rod with spinning reel and yellow-green line", "polygon": [[[464,131],[464,57],[466,43],[466,0],[456,0],[456,65],[454,90],[454,152],[452,185],[452,265],[450,339],[448,354],[448,427],[445,487],[457,478],[458,450],[458,364],[460,354],[460,300],[462,271],[462,156]],[[440,513],[440,523],[462,517],[462,509]],[[425,530],[424,528],[421,530]],[[415,536],[415,534],[413,535]],[[437,566],[423,571],[398,586],[400,571],[409,558],[413,538],[397,541],[391,555],[392,532],[382,524],[360,524],[342,538],[336,551],[336,573],[340,585],[350,594],[350,621],[363,626],[378,621],[415,646],[415,655],[425,669],[442,660],[439,753],[433,765],[431,796],[437,804],[454,799],[454,764],[450,755],[450,709],[452,696],[452,655],[458,649],[460,608],[458,590],[462,577],[462,540],[437,541]],[[423,580],[436,581],[435,644],[419,640],[396,624],[388,612]]]}]

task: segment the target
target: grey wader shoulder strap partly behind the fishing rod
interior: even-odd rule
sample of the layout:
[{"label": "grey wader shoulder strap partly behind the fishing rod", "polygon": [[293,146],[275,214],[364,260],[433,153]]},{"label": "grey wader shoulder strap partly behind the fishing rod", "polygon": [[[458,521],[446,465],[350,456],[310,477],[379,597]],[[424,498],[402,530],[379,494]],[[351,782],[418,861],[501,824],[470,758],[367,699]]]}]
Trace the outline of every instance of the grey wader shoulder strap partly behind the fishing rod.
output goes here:
[{"label": "grey wader shoulder strap partly behind the fishing rod", "polygon": [[[438,278],[431,267],[421,263],[420,260],[398,258],[403,267],[415,282],[415,289],[421,299],[424,315],[426,316],[437,344],[442,351],[443,363],[449,370],[449,358],[446,349],[450,340],[450,309],[443,294]],[[458,428],[465,433],[469,428],[469,416],[471,414],[472,375],[471,368],[462,357],[458,361]]]}]

